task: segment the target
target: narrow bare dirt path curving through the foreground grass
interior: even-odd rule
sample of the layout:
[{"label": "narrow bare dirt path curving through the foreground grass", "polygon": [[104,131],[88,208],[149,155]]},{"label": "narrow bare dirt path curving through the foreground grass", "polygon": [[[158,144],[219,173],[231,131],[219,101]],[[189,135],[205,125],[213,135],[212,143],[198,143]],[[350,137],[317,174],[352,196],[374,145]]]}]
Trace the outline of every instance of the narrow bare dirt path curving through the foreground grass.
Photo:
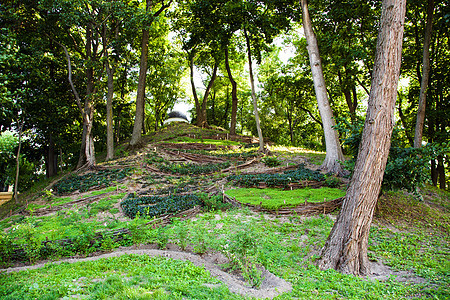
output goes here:
[{"label": "narrow bare dirt path curving through the foreground grass", "polygon": [[[180,252],[180,251],[172,251],[172,250],[156,250],[156,249],[122,249],[119,251],[114,251],[107,254],[101,254],[98,256],[91,256],[86,258],[69,258],[69,259],[62,259],[59,261],[51,262],[52,264],[60,264],[63,262],[68,263],[74,263],[79,261],[94,261],[102,258],[108,258],[108,257],[118,257],[125,254],[138,254],[138,255],[148,255],[150,257],[155,256],[161,256],[161,257],[168,257],[172,259],[177,260],[183,260],[183,261],[190,261],[194,265],[199,267],[204,267],[206,270],[208,270],[211,275],[224,284],[226,284],[232,293],[240,294],[242,296],[251,296],[256,298],[269,298],[272,299],[280,294],[283,294],[285,292],[290,292],[292,290],[292,285],[287,282],[286,280],[279,278],[275,276],[274,274],[270,273],[267,270],[263,271],[263,277],[264,280],[261,284],[261,287],[259,289],[252,288],[249,286],[245,281],[243,281],[239,276],[233,275],[227,272],[224,272],[220,270],[219,266],[212,263],[211,261],[214,260],[212,257],[213,255],[210,254],[210,256],[207,259],[204,259],[200,257],[199,255],[187,253],[187,252]],[[1,272],[18,272],[23,270],[33,270],[42,268],[45,266],[45,263],[42,264],[36,264],[33,266],[25,266],[25,267],[16,267],[16,268],[8,268],[8,269],[2,269]]]}]

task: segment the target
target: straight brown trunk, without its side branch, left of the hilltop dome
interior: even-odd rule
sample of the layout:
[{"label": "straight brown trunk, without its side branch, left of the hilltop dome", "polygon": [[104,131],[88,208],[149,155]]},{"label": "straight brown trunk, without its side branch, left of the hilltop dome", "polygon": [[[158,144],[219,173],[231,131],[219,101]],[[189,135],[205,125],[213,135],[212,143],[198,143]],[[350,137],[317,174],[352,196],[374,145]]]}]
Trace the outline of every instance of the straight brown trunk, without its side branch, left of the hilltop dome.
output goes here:
[{"label": "straight brown trunk, without its side branch, left of the hilltop dome", "polygon": [[[146,11],[149,12],[152,5],[152,1],[147,1]],[[141,140],[142,136],[142,124],[144,122],[144,109],[145,109],[145,81],[147,78],[147,65],[148,65],[148,29],[142,30],[142,42],[141,42],[141,60],[139,63],[139,79],[138,88],[136,94],[136,113],[134,117],[133,134],[131,135],[130,146],[136,147]]]}]

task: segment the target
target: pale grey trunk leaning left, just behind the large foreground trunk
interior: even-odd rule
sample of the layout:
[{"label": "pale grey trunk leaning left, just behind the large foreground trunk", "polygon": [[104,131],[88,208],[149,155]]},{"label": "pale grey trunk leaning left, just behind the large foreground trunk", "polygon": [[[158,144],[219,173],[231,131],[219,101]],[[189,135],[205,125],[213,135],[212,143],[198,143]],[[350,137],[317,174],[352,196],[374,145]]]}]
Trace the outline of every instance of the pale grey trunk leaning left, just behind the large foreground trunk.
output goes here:
[{"label": "pale grey trunk leaning left, just behind the large foreground trunk", "polygon": [[316,91],[317,104],[319,107],[320,116],[322,118],[323,132],[325,135],[326,156],[321,168],[332,173],[341,173],[342,166],[339,161],[344,160],[341,145],[339,143],[339,136],[337,131],[333,129],[336,125],[333,112],[328,101],[327,89],[325,86],[325,79],[323,77],[322,63],[320,61],[319,46],[317,38],[314,34],[311,19],[308,12],[308,4],[306,0],[301,0],[303,13],[303,29],[305,31],[306,42],[308,43],[309,62],[311,65],[311,72],[314,82],[314,89]]}]

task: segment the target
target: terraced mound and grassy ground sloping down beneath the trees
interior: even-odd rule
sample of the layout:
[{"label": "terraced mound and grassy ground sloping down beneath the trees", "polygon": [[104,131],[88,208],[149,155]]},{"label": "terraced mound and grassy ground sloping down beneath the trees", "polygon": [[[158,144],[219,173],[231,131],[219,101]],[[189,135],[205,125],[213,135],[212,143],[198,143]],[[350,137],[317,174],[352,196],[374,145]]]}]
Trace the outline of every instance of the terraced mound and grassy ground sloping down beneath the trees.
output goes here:
[{"label": "terraced mound and grassy ground sloping down beneath the trees", "polygon": [[[4,205],[1,298],[450,297],[448,192],[424,188],[424,201],[383,193],[372,274],[321,271],[314,261],[348,179],[318,171],[323,153],[268,146],[262,156],[254,142],[169,126],[137,150],[119,147],[96,170],[42,183],[22,195],[22,207]],[[259,195],[255,187],[259,205],[228,192]],[[172,210],[161,213],[158,203]]]}]

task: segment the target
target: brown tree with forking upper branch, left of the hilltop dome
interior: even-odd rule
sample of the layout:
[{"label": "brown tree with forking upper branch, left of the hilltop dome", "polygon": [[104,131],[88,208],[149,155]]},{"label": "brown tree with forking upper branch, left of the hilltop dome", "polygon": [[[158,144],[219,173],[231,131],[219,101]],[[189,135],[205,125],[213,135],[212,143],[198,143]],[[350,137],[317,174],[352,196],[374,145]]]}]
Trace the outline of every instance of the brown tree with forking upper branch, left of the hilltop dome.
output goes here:
[{"label": "brown tree with forking upper branch, left of the hilltop dome", "polygon": [[145,111],[145,84],[147,78],[147,60],[148,60],[148,41],[149,41],[149,27],[152,25],[152,22],[155,18],[157,18],[165,9],[169,8],[172,0],[164,3],[164,0],[161,0],[161,7],[151,13],[153,9],[153,1],[146,0],[145,11],[146,11],[146,20],[144,22],[144,28],[142,29],[142,42],[141,42],[141,60],[139,63],[139,80],[138,80],[138,88],[136,94],[136,114],[134,117],[134,127],[133,134],[130,140],[130,146],[135,147],[138,145],[141,140],[142,135],[142,125],[144,123],[144,111]]}]

